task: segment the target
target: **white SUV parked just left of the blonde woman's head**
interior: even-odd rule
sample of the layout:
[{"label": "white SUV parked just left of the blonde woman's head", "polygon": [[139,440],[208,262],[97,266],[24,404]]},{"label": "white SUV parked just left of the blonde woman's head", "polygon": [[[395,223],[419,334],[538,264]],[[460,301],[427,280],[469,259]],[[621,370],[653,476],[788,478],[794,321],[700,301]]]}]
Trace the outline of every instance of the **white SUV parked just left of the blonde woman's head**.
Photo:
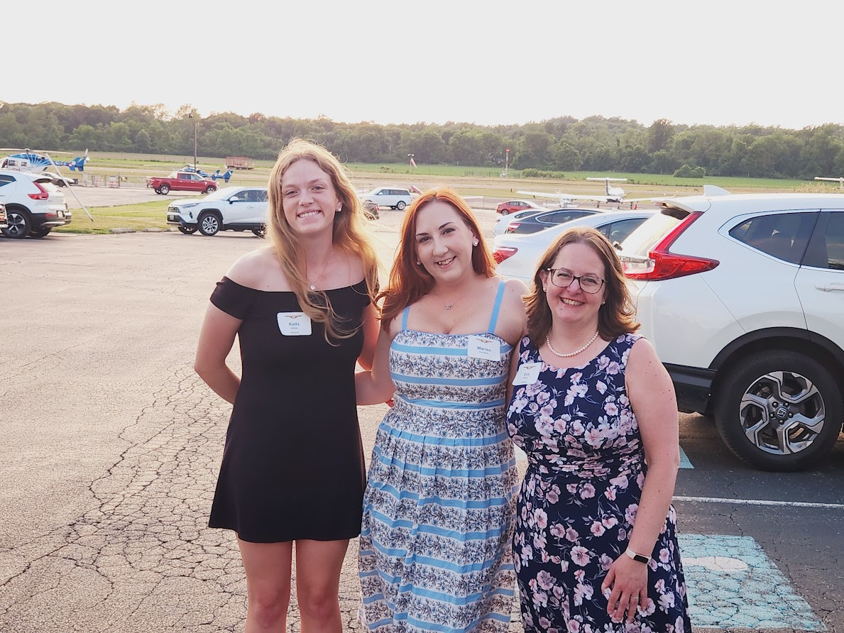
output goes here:
[{"label": "white SUV parked just left of the blonde woman's head", "polygon": [[224,187],[200,200],[180,200],[167,207],[167,224],[185,235],[217,235],[221,230],[251,230],[263,237],[267,228],[267,187]]}]

